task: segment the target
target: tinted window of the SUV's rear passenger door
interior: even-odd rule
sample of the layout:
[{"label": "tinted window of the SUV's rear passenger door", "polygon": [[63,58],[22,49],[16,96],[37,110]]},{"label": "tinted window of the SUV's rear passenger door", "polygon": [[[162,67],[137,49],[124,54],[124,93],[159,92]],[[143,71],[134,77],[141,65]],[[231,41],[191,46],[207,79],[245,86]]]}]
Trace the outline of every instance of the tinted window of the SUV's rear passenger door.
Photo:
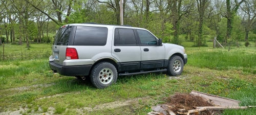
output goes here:
[{"label": "tinted window of the SUV's rear passenger door", "polygon": [[115,29],[115,45],[136,45],[136,38],[133,29]]}]

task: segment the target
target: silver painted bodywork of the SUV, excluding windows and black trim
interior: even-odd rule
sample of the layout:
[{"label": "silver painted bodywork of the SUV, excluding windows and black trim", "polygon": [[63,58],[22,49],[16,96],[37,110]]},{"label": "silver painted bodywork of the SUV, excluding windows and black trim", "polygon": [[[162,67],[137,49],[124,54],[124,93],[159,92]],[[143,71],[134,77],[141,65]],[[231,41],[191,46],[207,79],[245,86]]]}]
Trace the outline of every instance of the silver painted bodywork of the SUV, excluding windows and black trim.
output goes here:
[{"label": "silver painted bodywork of the SUV, excluding windows and black trim", "polygon": [[[70,26],[92,26],[90,24],[72,24]],[[59,65],[86,65],[93,64],[101,59],[113,59],[115,62],[131,62],[131,61],[144,61],[144,60],[160,60],[169,59],[174,53],[180,53],[187,58],[183,52],[184,47],[176,44],[163,43],[162,46],[114,46],[114,29],[115,28],[130,28],[121,26],[109,25],[93,25],[97,27],[108,28],[108,39],[104,46],[76,46],[76,45],[52,45],[53,50],[58,50],[58,59],[54,59],[55,53],[49,57],[49,60],[54,60]],[[142,28],[132,28],[141,29]],[[148,31],[148,30],[146,30]],[[150,31],[148,31],[150,32]],[[151,32],[150,32],[151,33]],[[154,34],[153,34],[154,35]],[[56,48],[55,48],[56,47]],[[78,53],[79,59],[66,59],[66,48],[75,48]],[[144,52],[144,48],[150,48],[150,52]],[[114,49],[121,49],[121,52],[116,53]]]}]

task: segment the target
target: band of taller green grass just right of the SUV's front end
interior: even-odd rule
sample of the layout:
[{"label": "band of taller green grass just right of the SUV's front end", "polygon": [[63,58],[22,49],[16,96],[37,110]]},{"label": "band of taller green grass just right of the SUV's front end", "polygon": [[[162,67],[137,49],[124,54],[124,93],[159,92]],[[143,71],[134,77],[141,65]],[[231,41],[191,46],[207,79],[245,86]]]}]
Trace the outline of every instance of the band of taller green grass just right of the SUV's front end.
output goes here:
[{"label": "band of taller green grass just right of the SUV's front end", "polygon": [[198,67],[208,67],[216,70],[234,68],[256,74],[256,48],[200,49],[187,50],[190,54],[188,63]]}]

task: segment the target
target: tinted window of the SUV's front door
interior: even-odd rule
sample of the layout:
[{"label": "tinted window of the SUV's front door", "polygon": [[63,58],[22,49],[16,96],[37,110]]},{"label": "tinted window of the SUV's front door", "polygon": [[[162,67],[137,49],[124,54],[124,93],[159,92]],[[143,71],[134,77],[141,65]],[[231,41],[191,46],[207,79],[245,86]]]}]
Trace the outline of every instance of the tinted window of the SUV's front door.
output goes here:
[{"label": "tinted window of the SUV's front door", "polygon": [[140,42],[143,45],[157,45],[156,37],[153,36],[150,32],[145,30],[137,30]]}]

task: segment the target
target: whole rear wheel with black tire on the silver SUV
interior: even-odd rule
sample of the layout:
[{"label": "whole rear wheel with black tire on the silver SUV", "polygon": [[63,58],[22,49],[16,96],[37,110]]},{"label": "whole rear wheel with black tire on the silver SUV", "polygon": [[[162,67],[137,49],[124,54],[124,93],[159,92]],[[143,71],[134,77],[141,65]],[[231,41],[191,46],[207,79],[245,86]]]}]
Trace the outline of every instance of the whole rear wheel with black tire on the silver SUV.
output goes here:
[{"label": "whole rear wheel with black tire on the silver SUV", "polygon": [[101,62],[93,67],[90,77],[95,87],[105,88],[117,81],[117,70],[113,64]]}]

